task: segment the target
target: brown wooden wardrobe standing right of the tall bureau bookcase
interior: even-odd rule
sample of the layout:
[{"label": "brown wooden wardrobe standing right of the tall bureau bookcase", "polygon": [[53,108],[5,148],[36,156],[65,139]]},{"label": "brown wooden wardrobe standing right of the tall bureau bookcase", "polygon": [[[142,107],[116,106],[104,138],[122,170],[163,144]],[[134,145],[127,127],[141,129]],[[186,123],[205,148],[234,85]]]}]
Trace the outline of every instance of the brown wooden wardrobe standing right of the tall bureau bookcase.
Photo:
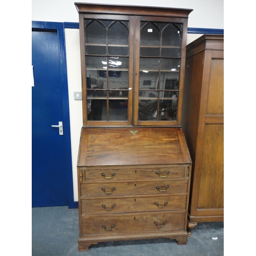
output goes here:
[{"label": "brown wooden wardrobe standing right of the tall bureau bookcase", "polygon": [[224,220],[223,47],[223,35],[206,34],[186,50],[182,127],[193,161],[189,228]]}]

